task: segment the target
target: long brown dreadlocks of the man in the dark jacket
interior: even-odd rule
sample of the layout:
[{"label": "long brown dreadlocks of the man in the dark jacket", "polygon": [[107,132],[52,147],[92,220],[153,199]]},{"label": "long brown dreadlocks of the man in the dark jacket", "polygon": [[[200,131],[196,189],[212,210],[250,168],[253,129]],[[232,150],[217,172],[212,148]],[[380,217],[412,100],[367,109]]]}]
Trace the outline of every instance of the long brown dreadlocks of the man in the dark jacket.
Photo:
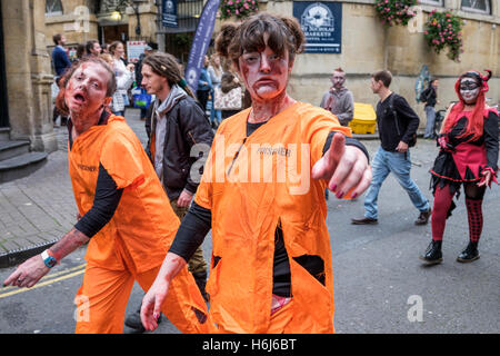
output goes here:
[{"label": "long brown dreadlocks of the man in the dark jacket", "polygon": [[170,88],[173,85],[180,86],[190,97],[196,98],[186,80],[182,77],[182,72],[179,68],[179,63],[170,53],[154,52],[149,55],[142,60],[142,65],[148,65],[157,76],[167,79]]}]

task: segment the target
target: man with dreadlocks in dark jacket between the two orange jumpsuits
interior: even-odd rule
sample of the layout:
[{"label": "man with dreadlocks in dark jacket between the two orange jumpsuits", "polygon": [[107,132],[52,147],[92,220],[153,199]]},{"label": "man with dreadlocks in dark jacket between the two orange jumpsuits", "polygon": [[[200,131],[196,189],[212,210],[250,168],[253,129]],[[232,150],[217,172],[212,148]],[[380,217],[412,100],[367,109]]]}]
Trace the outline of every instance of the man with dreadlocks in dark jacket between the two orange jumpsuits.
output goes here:
[{"label": "man with dreadlocks in dark jacket between the two orange jumpsuits", "polygon": [[[146,122],[147,152],[173,211],[182,219],[201,179],[213,131],[173,56],[154,52],[146,57],[141,86],[148,93],[157,96],[151,103],[151,117]],[[189,270],[207,299],[207,263],[201,248],[189,260]],[[126,325],[143,329],[139,314],[127,318]]]}]

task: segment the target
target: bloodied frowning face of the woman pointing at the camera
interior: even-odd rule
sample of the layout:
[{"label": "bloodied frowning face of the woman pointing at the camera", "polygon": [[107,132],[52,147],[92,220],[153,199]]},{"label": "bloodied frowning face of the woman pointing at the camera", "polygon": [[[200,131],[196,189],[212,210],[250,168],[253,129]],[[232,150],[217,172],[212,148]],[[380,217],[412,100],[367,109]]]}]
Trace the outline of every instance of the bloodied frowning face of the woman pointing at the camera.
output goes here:
[{"label": "bloodied frowning face of the woman pointing at the camera", "polygon": [[288,51],[278,56],[267,44],[269,34],[264,34],[266,48],[261,51],[243,51],[238,59],[240,73],[253,100],[267,101],[277,98],[287,88],[288,76],[293,63]]}]

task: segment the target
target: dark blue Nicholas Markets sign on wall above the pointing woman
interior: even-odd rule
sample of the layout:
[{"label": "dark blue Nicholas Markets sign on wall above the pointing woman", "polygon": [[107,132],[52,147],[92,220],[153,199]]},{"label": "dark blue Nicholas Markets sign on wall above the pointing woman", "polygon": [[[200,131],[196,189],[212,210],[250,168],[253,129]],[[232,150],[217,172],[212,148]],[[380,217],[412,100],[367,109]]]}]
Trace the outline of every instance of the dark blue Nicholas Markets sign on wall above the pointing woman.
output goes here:
[{"label": "dark blue Nicholas Markets sign on wall above the pointing woman", "polygon": [[341,2],[293,1],[293,17],[306,34],[306,53],[341,53]]}]

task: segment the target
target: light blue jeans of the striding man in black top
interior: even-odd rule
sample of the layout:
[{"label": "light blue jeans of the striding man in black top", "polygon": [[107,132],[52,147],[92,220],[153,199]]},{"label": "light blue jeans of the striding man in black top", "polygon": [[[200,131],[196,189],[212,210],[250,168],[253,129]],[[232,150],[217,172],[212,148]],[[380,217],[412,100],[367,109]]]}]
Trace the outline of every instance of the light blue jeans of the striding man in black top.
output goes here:
[{"label": "light blue jeans of the striding man in black top", "polygon": [[380,187],[390,172],[394,174],[396,179],[408,192],[411,202],[417,209],[420,211],[429,210],[429,201],[410,178],[411,160],[409,150],[406,154],[390,152],[380,147],[373,157],[371,169],[373,178],[364,196],[364,217],[378,219],[377,200]]}]

